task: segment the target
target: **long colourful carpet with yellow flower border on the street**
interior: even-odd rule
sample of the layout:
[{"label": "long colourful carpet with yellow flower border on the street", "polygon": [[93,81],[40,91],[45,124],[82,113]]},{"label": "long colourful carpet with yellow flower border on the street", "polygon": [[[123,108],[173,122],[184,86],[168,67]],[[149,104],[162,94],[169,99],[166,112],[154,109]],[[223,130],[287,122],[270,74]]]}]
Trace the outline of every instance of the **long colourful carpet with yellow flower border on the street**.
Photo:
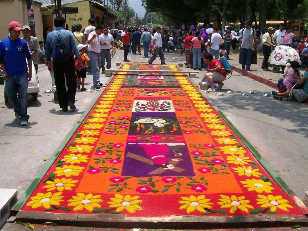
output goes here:
[{"label": "long colourful carpet with yellow flower border on the street", "polygon": [[22,210],[303,215],[176,65],[121,68]]}]

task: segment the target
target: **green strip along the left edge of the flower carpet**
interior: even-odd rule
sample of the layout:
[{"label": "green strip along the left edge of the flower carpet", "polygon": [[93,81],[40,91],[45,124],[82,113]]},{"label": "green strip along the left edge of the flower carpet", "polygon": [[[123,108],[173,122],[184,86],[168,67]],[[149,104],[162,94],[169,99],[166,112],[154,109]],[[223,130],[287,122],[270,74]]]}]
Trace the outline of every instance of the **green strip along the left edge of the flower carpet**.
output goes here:
[{"label": "green strip along the left edge of the flower carpet", "polygon": [[[116,74],[116,73],[115,73]],[[51,166],[55,163],[58,156],[62,152],[62,150],[66,147],[66,144],[68,141],[71,140],[72,136],[75,134],[77,129],[80,127],[80,124],[83,122],[83,120],[86,118],[86,116],[91,111],[92,107],[96,103],[96,101],[102,96],[103,92],[106,90],[107,85],[110,83],[112,78],[115,76],[112,75],[106,82],[105,87],[102,91],[100,91],[100,94],[98,94],[95,99],[91,102],[91,104],[87,107],[87,109],[84,111],[84,113],[81,115],[79,120],[76,122],[74,127],[71,129],[71,131],[65,136],[64,140],[61,142],[61,144],[58,146],[58,148],[55,150],[55,152],[49,157],[47,162],[44,164],[43,168],[40,170],[40,172],[35,176],[35,179],[32,180],[31,184],[28,186],[26,191],[20,196],[14,207],[11,209],[12,211],[19,211],[22,209],[22,207],[25,205],[25,203],[28,201],[29,197],[33,193],[34,189],[39,185],[39,182],[43,179],[43,177],[46,175],[48,170],[51,168]]]}]

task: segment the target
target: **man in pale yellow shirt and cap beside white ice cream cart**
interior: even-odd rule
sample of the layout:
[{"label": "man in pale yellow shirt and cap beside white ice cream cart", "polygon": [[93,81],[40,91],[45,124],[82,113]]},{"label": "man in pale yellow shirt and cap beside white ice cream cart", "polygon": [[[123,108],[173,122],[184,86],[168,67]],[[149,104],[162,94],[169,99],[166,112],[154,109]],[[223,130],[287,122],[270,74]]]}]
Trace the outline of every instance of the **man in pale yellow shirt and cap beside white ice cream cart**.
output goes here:
[{"label": "man in pale yellow shirt and cap beside white ice cream cart", "polygon": [[261,69],[263,69],[263,71],[270,71],[269,67],[268,67],[268,60],[270,58],[270,53],[271,53],[271,45],[272,44],[277,44],[274,42],[274,33],[275,33],[275,29],[273,27],[269,27],[267,29],[267,33],[265,33],[262,36],[262,51],[263,51],[263,62],[262,62],[262,66]]}]

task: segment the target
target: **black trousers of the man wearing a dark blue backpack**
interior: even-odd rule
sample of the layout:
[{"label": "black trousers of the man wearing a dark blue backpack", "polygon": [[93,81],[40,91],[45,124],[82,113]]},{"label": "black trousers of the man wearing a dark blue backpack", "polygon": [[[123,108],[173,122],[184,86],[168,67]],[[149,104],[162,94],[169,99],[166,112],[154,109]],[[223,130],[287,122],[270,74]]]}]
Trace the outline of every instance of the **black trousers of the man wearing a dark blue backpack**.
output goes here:
[{"label": "black trousers of the man wearing a dark blue backpack", "polygon": [[[63,63],[57,63],[54,60],[52,62],[52,65],[54,70],[59,105],[61,108],[67,107],[68,101],[75,103],[75,95],[77,88],[75,61],[73,57],[70,57],[66,62]],[[66,78],[67,91],[65,88],[64,78]]]}]

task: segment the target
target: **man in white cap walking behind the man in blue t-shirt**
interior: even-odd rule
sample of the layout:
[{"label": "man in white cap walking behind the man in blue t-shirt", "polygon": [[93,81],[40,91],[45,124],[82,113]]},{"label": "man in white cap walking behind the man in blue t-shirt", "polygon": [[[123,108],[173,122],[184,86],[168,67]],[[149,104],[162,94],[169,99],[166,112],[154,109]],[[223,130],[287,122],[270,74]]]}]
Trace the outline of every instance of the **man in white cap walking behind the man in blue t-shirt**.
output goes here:
[{"label": "man in white cap walking behind the man in blue t-shirt", "polygon": [[38,73],[38,63],[39,63],[39,56],[38,56],[38,49],[39,47],[39,39],[33,36],[30,36],[30,26],[23,26],[22,27],[22,34],[23,37],[21,39],[24,39],[27,41],[30,51],[31,51],[31,57],[32,57],[32,63],[35,68],[36,74]]}]

